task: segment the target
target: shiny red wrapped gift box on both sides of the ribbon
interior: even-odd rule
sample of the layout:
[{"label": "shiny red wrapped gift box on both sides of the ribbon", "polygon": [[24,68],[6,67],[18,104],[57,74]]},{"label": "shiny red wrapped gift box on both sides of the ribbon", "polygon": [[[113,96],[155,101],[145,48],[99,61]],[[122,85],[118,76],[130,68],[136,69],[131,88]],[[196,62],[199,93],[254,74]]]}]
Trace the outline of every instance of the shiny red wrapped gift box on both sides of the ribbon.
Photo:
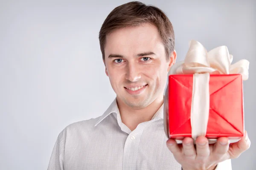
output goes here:
[{"label": "shiny red wrapped gift box on both sides of the ribbon", "polygon": [[[243,82],[241,74],[211,74],[209,119],[206,137],[240,139],[244,135]],[[169,75],[169,138],[192,137],[190,111],[193,74]]]}]

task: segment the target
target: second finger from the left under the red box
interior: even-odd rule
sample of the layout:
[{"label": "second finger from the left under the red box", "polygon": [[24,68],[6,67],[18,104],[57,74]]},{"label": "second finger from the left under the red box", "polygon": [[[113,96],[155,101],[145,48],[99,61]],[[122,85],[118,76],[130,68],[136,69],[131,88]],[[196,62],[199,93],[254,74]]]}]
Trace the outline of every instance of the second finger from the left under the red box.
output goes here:
[{"label": "second finger from the left under the red box", "polygon": [[195,159],[196,151],[193,139],[186,137],[185,139],[183,139],[182,146],[185,157],[188,159]]}]

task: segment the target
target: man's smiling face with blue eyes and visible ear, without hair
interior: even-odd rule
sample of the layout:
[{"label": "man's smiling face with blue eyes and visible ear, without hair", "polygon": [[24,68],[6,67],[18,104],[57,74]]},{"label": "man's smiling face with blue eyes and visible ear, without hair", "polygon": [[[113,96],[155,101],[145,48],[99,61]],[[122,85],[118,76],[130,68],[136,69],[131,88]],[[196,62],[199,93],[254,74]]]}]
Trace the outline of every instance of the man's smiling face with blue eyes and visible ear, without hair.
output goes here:
[{"label": "man's smiling face with blue eyes and visible ear, without hair", "polygon": [[106,37],[106,74],[118,102],[132,108],[145,108],[156,99],[163,99],[169,62],[157,27],[144,24],[120,28]]}]

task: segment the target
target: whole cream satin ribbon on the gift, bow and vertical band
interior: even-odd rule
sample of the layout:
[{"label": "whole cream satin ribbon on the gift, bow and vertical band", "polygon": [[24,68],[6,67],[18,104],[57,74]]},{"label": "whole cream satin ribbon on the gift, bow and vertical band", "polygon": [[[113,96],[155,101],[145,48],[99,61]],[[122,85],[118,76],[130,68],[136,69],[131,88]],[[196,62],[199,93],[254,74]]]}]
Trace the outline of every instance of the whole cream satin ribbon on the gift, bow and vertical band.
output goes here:
[{"label": "whole cream satin ribbon on the gift, bow and vertical band", "polygon": [[[209,75],[241,74],[248,79],[249,61],[241,59],[231,65],[233,55],[227,46],[219,46],[207,52],[204,46],[195,40],[189,42],[185,60],[172,65],[168,75],[193,74],[191,127],[192,138],[205,136],[209,119]],[[234,141],[236,142],[236,141]]]}]

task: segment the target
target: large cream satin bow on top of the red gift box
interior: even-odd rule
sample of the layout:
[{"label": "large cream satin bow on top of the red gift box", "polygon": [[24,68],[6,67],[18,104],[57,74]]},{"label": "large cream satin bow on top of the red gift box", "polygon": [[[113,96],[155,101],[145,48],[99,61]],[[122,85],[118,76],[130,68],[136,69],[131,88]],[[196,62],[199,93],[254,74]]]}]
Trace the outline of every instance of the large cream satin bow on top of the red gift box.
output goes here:
[{"label": "large cream satin bow on top of the red gift box", "polygon": [[248,79],[249,61],[241,59],[231,65],[233,55],[227,46],[219,46],[207,52],[204,46],[195,40],[189,42],[189,50],[185,60],[172,65],[169,74],[241,74],[243,80]]}]

